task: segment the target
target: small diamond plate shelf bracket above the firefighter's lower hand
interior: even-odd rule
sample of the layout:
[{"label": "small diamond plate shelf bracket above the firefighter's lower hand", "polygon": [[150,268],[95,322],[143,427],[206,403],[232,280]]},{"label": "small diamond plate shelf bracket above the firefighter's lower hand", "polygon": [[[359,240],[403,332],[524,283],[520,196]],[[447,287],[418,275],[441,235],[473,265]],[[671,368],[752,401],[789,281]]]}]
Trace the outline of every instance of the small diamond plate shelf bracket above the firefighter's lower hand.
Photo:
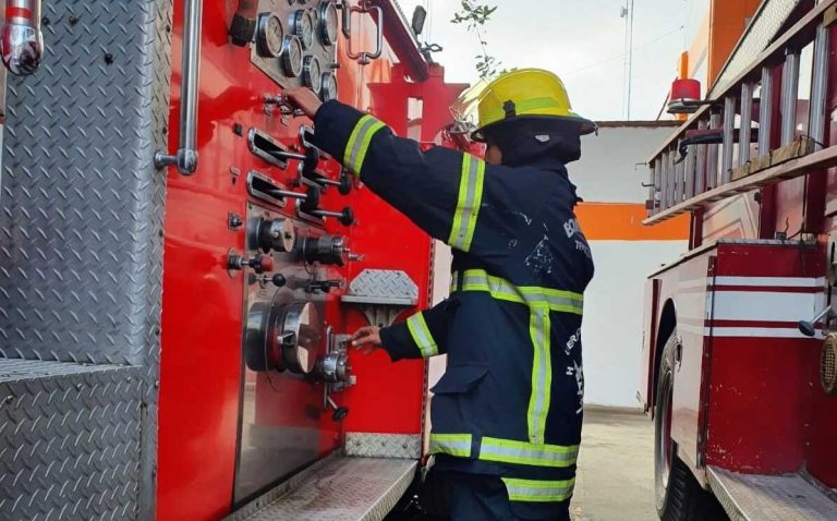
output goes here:
[{"label": "small diamond plate shelf bracket above the firefighter's lower hand", "polygon": [[414,305],[418,287],[404,271],[364,269],[349,284],[343,302],[356,304]]}]

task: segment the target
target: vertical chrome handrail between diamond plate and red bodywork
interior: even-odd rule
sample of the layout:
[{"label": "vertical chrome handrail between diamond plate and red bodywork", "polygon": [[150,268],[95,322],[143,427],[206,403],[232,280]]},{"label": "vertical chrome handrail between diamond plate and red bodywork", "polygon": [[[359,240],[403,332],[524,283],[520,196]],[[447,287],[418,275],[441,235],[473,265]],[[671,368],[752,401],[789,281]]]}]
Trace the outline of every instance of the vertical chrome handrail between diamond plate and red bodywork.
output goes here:
[{"label": "vertical chrome handrail between diamond plate and red bodywork", "polygon": [[154,157],[157,168],[177,166],[183,175],[197,170],[197,98],[201,80],[201,36],[203,0],[183,0],[183,58],[180,85],[180,136],[178,152],[159,152]]}]

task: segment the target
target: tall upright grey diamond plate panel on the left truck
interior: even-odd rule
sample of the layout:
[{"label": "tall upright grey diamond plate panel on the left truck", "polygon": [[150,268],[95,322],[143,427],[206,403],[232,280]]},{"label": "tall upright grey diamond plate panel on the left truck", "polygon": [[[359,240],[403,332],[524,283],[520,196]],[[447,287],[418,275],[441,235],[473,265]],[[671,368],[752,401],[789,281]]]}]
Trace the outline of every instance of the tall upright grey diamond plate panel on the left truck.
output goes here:
[{"label": "tall upright grey diamond plate panel on the left truck", "polygon": [[0,355],[142,365],[154,512],[172,0],[44,2],[46,58],[10,77]]}]

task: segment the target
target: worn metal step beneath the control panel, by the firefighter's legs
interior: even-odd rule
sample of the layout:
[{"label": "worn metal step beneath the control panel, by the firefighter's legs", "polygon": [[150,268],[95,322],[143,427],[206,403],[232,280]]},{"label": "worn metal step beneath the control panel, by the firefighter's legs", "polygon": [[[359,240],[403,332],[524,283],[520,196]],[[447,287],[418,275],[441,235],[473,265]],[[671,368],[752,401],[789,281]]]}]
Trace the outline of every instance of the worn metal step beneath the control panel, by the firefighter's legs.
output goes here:
[{"label": "worn metal step beneath the control panel, by the firefighter's legs", "polygon": [[245,505],[228,521],[380,521],[415,477],[416,460],[331,456]]}]

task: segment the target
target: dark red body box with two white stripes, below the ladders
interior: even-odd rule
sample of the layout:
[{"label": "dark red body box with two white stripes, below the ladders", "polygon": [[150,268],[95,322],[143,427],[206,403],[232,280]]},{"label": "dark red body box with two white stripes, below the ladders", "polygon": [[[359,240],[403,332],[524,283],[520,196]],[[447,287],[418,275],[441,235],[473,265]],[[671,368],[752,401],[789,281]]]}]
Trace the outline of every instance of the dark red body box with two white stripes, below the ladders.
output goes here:
[{"label": "dark red body box with two white stripes, below the ladders", "polygon": [[[826,441],[837,425],[827,420],[837,414],[837,400],[816,381],[821,340],[783,338],[813,315],[823,292],[815,281],[824,271],[821,246],[721,243],[653,277],[660,283],[660,307],[669,300],[676,306],[682,340],[671,435],[699,477],[705,465],[769,474],[804,464],[824,483],[837,478],[833,467],[811,458],[837,459]],[[794,282],[802,279],[811,282]],[[809,299],[809,306],[793,304],[796,295]],[[779,310],[778,319],[769,308],[764,318],[724,315],[748,315],[741,308],[767,298],[789,303],[787,313]],[[654,310],[654,316],[660,313]],[[742,329],[752,336],[731,332]]]}]

